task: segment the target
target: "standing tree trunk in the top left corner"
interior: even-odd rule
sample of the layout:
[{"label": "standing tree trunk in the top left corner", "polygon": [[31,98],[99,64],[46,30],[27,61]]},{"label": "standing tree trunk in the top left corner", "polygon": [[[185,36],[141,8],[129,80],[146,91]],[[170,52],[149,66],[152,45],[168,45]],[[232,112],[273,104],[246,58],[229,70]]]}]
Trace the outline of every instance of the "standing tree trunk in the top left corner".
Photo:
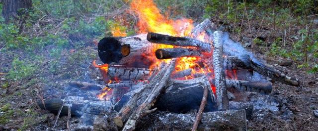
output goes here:
[{"label": "standing tree trunk in the top left corner", "polygon": [[2,16],[4,22],[8,23],[10,17],[17,18],[18,15],[25,13],[21,8],[30,9],[32,8],[32,0],[1,0],[3,3]]}]

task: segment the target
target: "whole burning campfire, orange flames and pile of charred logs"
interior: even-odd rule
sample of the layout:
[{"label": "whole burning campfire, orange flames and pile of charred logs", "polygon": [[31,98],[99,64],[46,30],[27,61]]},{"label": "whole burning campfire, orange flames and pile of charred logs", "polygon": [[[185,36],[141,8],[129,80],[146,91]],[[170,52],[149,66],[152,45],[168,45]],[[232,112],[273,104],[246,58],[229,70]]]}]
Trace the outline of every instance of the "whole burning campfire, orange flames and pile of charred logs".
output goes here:
[{"label": "whole burning campfire, orange flames and pile of charred logs", "polygon": [[299,85],[210,19],[195,27],[191,19],[169,20],[151,0],[133,0],[131,9],[139,34],[114,29],[114,37],[98,43],[103,64],[93,65],[106,85],[72,81],[71,87],[97,95],[44,100],[42,108],[85,117],[96,131],[246,130],[254,110],[279,110],[272,81]]}]

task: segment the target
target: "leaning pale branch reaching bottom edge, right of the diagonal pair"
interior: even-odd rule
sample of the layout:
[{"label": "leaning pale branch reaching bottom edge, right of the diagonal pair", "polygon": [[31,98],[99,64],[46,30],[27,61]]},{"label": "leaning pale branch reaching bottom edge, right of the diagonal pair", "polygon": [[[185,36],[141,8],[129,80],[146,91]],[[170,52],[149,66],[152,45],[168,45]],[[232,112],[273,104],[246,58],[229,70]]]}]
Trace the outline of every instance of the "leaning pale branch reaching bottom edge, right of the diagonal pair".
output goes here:
[{"label": "leaning pale branch reaching bottom edge, right of the diagonal pair", "polygon": [[148,95],[147,99],[143,102],[143,104],[139,105],[138,108],[132,113],[132,115],[127,120],[124,128],[122,131],[133,131],[136,128],[137,121],[140,120],[143,116],[149,114],[151,111],[151,107],[156,102],[160,93],[164,90],[164,86],[170,80],[170,75],[175,67],[176,59],[172,59],[169,63],[167,71],[165,72],[164,76],[160,80],[159,84],[153,89],[151,94]]}]

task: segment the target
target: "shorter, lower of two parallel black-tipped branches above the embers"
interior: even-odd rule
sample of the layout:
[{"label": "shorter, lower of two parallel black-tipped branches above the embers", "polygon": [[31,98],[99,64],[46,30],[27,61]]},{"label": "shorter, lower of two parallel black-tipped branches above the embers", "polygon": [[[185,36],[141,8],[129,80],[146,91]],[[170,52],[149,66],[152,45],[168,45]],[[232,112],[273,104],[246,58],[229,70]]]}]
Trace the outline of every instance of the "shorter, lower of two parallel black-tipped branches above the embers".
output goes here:
[{"label": "shorter, lower of two parallel black-tipped branches above the embers", "polygon": [[156,57],[158,59],[171,59],[177,57],[184,57],[184,56],[199,56],[201,57],[201,51],[194,48],[161,48],[156,50]]}]

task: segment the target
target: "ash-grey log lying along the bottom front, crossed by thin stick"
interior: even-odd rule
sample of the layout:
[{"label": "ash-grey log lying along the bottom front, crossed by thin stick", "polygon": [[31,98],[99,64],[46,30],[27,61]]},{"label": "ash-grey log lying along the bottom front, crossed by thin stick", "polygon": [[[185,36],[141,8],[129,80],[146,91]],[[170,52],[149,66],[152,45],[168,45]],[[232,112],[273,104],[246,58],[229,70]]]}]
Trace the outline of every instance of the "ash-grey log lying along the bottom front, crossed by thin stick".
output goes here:
[{"label": "ash-grey log lying along the bottom front, crossed by thin stick", "polygon": [[[190,131],[196,114],[156,112],[143,120],[140,131]],[[197,131],[245,131],[245,110],[206,112],[202,114]]]}]

